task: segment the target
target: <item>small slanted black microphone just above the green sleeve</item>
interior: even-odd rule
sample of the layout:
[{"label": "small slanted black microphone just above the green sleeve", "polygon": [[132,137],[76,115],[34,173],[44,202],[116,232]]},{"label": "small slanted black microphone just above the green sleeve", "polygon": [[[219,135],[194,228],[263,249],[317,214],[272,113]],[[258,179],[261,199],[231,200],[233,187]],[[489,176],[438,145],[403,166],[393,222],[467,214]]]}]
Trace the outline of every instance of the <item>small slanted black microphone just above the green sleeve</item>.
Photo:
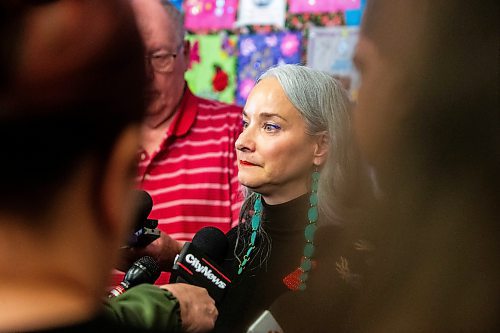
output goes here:
[{"label": "small slanted black microphone just above the green sleeve", "polygon": [[128,269],[123,281],[110,290],[108,298],[123,294],[127,289],[142,283],[154,283],[160,277],[160,266],[153,258],[144,256],[139,258]]}]

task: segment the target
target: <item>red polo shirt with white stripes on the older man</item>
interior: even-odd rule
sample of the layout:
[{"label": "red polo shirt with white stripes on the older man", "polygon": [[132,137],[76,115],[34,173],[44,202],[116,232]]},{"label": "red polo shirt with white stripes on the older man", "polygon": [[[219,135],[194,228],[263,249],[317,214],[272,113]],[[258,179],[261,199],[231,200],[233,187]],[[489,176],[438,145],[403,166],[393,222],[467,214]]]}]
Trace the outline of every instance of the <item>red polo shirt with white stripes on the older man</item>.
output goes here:
[{"label": "red polo shirt with white stripes on the older man", "polygon": [[205,226],[227,232],[237,223],[243,196],[234,143],[241,113],[186,88],[160,149],[140,152],[139,187],[151,195],[149,218],[158,219],[162,232],[190,241]]}]

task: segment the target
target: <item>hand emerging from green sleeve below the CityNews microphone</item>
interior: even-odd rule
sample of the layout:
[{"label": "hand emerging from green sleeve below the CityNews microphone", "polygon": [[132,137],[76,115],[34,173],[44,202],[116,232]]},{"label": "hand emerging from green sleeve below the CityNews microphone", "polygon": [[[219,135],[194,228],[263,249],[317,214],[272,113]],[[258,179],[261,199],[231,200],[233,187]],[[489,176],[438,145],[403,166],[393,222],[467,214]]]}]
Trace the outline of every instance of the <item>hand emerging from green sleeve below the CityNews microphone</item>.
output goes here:
[{"label": "hand emerging from green sleeve below the CityNews microphone", "polygon": [[185,283],[166,284],[161,288],[170,291],[179,301],[185,332],[203,333],[214,328],[219,312],[205,288]]}]

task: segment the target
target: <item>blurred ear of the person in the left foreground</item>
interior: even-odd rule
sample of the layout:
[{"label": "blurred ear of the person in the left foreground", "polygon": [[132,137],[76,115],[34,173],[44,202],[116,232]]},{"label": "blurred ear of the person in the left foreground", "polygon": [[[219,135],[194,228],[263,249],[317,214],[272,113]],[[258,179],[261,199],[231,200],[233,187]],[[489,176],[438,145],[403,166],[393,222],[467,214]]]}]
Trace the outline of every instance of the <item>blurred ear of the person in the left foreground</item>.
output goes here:
[{"label": "blurred ear of the person in the left foreground", "polygon": [[[140,130],[130,126],[118,137],[104,168],[101,187],[101,221],[112,241],[125,241],[135,209],[135,177]],[[111,240],[110,240],[111,241]]]}]

